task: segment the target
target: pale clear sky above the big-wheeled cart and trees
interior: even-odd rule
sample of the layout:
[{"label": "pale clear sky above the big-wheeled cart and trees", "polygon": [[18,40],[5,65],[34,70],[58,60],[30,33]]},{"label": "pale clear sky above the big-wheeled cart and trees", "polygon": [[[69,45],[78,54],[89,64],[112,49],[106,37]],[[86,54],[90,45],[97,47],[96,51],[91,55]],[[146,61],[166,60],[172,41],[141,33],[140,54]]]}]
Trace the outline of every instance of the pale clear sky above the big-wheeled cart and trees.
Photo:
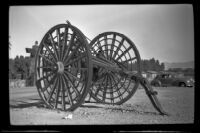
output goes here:
[{"label": "pale clear sky above the big-wheeled cart and trees", "polygon": [[91,40],[106,31],[126,35],[142,59],[194,61],[191,4],[10,6],[10,58],[29,56],[25,48],[66,20]]}]

